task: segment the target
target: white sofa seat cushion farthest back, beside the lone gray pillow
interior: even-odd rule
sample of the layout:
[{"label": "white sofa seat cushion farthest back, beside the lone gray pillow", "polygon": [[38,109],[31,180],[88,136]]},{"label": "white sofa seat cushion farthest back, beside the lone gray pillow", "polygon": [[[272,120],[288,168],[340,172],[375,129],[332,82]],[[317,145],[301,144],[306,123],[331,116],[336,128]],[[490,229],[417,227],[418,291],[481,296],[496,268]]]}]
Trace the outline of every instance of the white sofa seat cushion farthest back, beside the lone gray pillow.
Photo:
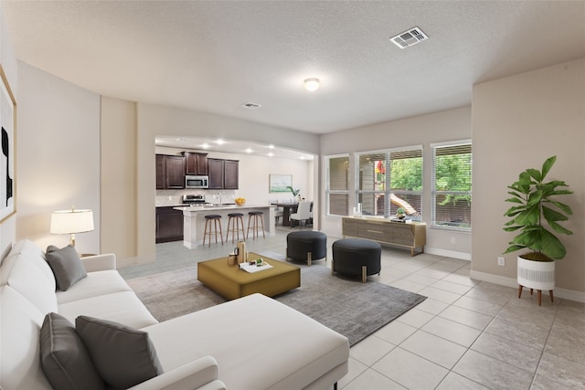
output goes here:
[{"label": "white sofa seat cushion farthest back, beside the lone gray pillow", "polygon": [[116,270],[88,272],[88,276],[67,291],[56,291],[58,304],[85,300],[113,292],[132,291]]}]

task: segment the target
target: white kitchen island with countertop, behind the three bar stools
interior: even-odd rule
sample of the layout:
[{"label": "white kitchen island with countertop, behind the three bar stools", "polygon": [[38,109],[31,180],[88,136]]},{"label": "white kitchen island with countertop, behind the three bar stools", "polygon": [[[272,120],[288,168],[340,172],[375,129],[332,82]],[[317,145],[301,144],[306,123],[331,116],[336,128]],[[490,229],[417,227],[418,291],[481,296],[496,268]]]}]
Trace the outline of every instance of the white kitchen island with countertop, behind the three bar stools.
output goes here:
[{"label": "white kitchen island with countertop, behind the three bar stools", "polygon": [[210,214],[222,216],[221,228],[225,239],[229,213],[242,213],[244,215],[244,230],[246,230],[248,228],[248,213],[250,211],[262,211],[264,213],[264,231],[266,235],[274,236],[274,206],[271,205],[180,206],[175,207],[175,209],[183,212],[183,245],[189,249],[197,248],[197,245],[203,243],[205,216]]}]

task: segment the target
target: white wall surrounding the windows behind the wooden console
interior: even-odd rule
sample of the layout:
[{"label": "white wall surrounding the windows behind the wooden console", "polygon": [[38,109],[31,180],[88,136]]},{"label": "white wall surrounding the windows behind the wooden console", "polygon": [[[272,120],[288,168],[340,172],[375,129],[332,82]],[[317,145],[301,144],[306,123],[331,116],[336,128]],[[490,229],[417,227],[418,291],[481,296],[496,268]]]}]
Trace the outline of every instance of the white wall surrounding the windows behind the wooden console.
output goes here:
[{"label": "white wall surrounding the windows behind the wooden console", "polygon": [[[434,112],[427,115],[390,121],[374,126],[361,127],[321,136],[322,158],[326,155],[350,154],[350,188],[354,188],[354,153],[378,151],[401,146],[423,146],[423,194],[422,220],[427,222],[427,246],[425,252],[453,258],[471,258],[471,235],[453,230],[430,227],[431,216],[431,148],[434,142],[456,141],[471,138],[471,107]],[[324,163],[322,177],[325,180]],[[324,184],[320,189],[324,205]],[[356,196],[350,191],[350,206]],[[322,214],[322,230],[328,235],[341,237],[341,218]],[[451,238],[454,238],[452,244]]]}]

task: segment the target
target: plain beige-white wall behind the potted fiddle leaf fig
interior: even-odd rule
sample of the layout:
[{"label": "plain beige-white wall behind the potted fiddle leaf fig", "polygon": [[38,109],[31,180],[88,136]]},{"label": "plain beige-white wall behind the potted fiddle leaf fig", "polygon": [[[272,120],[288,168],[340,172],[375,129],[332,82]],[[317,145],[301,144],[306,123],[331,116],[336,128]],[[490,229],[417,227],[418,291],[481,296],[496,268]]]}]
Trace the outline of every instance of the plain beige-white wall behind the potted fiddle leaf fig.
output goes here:
[{"label": "plain beige-white wall behind the potted fiddle leaf fig", "polygon": [[[516,256],[503,256],[514,233],[503,231],[510,204],[506,185],[557,155],[548,179],[564,180],[573,216],[559,236],[567,257],[557,261],[557,287],[585,292],[585,58],[473,87],[473,275],[516,286]],[[560,296],[557,289],[555,295]],[[571,297],[578,299],[578,297]],[[583,300],[585,294],[580,295]]]}]

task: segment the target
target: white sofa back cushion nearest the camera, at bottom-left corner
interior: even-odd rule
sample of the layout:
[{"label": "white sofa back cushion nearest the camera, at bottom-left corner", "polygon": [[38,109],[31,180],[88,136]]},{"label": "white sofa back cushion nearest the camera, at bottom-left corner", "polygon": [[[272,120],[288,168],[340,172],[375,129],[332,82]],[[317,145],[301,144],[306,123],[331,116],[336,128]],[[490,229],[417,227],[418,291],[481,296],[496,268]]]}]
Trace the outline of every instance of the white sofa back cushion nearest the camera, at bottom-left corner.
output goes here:
[{"label": "white sofa back cushion nearest the camera, at bottom-left corner", "polygon": [[45,314],[10,286],[0,287],[0,307],[0,387],[51,390],[38,347]]}]

